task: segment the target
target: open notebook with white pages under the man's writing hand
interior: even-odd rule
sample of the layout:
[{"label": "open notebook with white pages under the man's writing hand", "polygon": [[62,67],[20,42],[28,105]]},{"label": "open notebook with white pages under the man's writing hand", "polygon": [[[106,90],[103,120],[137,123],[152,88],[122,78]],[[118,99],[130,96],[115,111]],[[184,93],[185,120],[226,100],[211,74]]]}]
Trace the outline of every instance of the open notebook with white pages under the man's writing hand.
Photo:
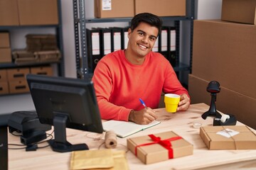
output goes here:
[{"label": "open notebook with white pages under the man's writing hand", "polygon": [[154,125],[158,125],[160,122],[154,120],[148,125],[139,125],[133,122],[125,122],[120,120],[109,120],[105,123],[102,123],[103,130],[110,131],[113,130],[118,137],[127,137],[141,130],[145,130]]}]

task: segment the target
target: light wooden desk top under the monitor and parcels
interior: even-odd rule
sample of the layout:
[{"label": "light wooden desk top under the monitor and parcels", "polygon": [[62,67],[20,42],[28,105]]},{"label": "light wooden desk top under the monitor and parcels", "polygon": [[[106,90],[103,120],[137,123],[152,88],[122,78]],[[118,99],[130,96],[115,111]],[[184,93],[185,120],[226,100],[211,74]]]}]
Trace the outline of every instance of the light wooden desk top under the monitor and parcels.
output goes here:
[{"label": "light wooden desk top under the monitor and parcels", "polygon": [[[172,130],[191,142],[194,146],[193,155],[164,162],[145,165],[132,152],[127,152],[127,161],[130,169],[216,169],[228,166],[231,169],[239,167],[256,168],[256,149],[254,150],[208,150],[199,136],[199,129],[193,128],[193,123],[212,125],[213,118],[203,120],[201,115],[208,111],[209,106],[204,103],[193,104],[188,111],[181,113],[166,113],[164,108],[158,111],[161,123],[152,128],[138,132],[129,137],[156,134]],[[237,125],[243,125],[237,123]],[[103,138],[96,140],[100,135],[80,130],[67,130],[68,141],[75,144],[86,142],[90,149],[98,149],[104,142]],[[93,139],[94,138],[94,139]],[[20,144],[19,137],[9,134],[9,143]],[[46,145],[46,144],[45,144]],[[127,150],[127,138],[118,138],[116,149]],[[10,146],[11,147],[11,146]],[[105,149],[102,145],[100,149]],[[36,152],[25,152],[24,149],[9,149],[9,169],[69,169],[70,152],[53,152],[50,147],[38,149]]]}]

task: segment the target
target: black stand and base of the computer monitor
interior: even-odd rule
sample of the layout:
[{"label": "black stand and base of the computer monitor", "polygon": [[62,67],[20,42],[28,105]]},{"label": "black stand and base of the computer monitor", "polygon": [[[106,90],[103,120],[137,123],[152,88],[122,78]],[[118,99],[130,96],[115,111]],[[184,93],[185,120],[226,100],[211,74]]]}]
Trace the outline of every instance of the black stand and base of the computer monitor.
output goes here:
[{"label": "black stand and base of the computer monitor", "polygon": [[49,140],[50,147],[55,152],[72,152],[78,150],[87,150],[89,147],[84,144],[72,145],[67,141],[66,123],[68,115],[56,114],[53,118],[54,140]]}]

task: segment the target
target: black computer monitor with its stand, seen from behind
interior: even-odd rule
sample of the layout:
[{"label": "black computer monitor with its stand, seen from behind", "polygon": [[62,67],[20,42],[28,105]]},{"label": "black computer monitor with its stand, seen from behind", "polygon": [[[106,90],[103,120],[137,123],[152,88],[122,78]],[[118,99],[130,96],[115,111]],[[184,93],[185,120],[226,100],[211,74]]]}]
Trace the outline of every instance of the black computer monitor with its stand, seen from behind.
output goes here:
[{"label": "black computer monitor with its stand, seen from behind", "polygon": [[41,123],[53,125],[53,151],[89,149],[86,144],[72,145],[66,128],[102,133],[100,111],[90,78],[73,79],[27,74],[26,79]]}]

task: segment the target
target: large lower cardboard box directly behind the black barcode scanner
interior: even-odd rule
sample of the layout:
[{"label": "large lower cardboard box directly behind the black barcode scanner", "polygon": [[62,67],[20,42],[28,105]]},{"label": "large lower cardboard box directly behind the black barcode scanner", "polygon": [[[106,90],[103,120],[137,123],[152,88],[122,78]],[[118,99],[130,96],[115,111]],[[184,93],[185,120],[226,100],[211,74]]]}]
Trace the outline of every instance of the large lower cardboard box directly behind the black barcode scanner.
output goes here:
[{"label": "large lower cardboard box directly behind the black barcode scanner", "polygon": [[[192,74],[188,75],[188,93],[191,103],[206,103],[210,106],[210,93],[206,91],[209,81]],[[221,85],[221,84],[220,84]],[[256,129],[256,98],[242,95],[221,86],[216,98],[216,109],[235,115],[238,121]]]}]

